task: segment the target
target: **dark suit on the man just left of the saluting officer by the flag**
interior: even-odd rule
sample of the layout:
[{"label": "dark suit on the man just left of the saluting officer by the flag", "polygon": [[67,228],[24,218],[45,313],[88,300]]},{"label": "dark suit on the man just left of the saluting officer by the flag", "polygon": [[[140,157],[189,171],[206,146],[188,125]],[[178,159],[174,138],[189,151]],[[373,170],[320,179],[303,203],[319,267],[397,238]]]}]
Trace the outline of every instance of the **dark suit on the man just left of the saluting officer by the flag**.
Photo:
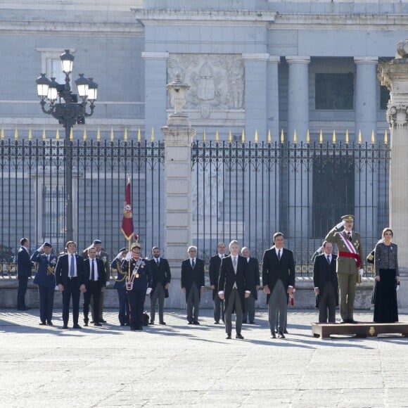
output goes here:
[{"label": "dark suit on the man just left of the saluting officer by the flag", "polygon": [[106,269],[105,262],[101,258],[96,258],[94,276],[96,277],[96,272],[98,272],[98,279],[91,280],[91,262],[90,258],[84,260],[84,283],[87,291],[84,292],[84,322],[88,324],[88,314],[89,314],[89,304],[91,303],[91,298],[94,300],[94,323],[99,323],[99,305],[101,300],[101,290],[106,286]]}]

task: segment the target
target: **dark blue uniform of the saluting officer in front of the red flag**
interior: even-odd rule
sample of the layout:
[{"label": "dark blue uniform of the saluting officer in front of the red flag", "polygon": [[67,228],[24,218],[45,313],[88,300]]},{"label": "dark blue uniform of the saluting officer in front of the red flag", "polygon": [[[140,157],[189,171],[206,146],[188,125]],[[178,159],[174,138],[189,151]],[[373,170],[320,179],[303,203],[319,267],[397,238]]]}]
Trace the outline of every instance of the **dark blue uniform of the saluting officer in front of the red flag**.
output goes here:
[{"label": "dark blue uniform of the saluting officer in front of the red flag", "polygon": [[[152,274],[147,260],[141,260],[141,264],[137,272],[135,271],[136,262],[138,259],[132,258],[131,260],[124,260],[122,262],[122,272],[128,273],[128,267],[130,263],[130,273],[132,276],[133,287],[131,290],[127,289],[127,296],[129,298],[130,307],[130,329],[141,330],[143,326],[143,312],[144,312],[144,300],[146,298],[147,288],[152,287]],[[136,272],[136,274],[134,274]]]}]

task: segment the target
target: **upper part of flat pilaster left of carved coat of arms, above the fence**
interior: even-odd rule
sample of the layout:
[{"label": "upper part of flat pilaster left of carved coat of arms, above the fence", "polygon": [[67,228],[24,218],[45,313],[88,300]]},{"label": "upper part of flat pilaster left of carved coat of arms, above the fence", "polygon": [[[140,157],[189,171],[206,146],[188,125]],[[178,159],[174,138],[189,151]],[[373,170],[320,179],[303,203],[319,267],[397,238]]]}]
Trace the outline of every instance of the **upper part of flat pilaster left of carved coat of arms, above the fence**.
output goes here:
[{"label": "upper part of flat pilaster left of carved coat of arms, above the fence", "polygon": [[[167,59],[166,52],[142,52],[144,59],[144,129],[146,139],[150,140],[152,128],[163,123],[167,110]],[[159,120],[159,122],[158,122]],[[157,129],[155,129],[156,134]],[[160,137],[160,133],[157,132]]]}]

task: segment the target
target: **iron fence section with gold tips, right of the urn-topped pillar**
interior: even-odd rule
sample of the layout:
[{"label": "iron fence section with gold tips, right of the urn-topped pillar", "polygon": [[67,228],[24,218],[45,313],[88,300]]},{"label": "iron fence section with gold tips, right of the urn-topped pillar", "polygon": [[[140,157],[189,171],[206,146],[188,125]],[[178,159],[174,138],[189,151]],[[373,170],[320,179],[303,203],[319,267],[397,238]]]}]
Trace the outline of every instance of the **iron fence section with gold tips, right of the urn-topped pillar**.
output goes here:
[{"label": "iron fence section with gold tips, right of the urn-topped pillar", "polygon": [[[193,222],[200,255],[237,238],[262,260],[275,231],[295,253],[299,275],[341,215],[371,250],[388,225],[388,144],[197,141]],[[369,269],[368,272],[371,272]]]}]

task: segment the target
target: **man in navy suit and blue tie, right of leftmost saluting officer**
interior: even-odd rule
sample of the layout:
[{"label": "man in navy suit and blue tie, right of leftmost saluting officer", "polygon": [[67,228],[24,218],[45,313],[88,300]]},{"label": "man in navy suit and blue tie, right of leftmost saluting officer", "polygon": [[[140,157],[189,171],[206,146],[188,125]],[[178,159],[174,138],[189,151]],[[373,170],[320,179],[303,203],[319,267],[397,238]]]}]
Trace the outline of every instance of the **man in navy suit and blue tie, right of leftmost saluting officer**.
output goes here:
[{"label": "man in navy suit and blue tie, right of leftmost saluting officer", "polygon": [[70,318],[70,300],[72,298],[72,318],[74,329],[82,329],[78,324],[79,295],[85,291],[84,258],[77,255],[77,244],[67,242],[67,253],[60,255],[56,264],[56,283],[58,291],[63,293],[63,329],[68,329]]}]

